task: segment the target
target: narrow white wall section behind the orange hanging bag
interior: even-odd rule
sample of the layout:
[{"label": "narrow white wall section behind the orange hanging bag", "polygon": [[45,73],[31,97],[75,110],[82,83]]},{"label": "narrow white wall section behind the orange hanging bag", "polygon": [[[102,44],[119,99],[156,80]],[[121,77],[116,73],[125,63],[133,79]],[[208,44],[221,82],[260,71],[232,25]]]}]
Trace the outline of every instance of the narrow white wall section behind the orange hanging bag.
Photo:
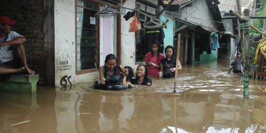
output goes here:
[{"label": "narrow white wall section behind the orange hanging bag", "polygon": [[[123,4],[124,7],[127,8],[135,8],[135,4],[133,3],[135,0],[128,0],[126,3]],[[128,11],[132,11],[129,9],[125,9],[126,13]],[[121,19],[121,65],[123,66],[135,66],[135,33],[129,32],[130,23],[133,20],[133,17],[126,21],[123,18],[124,14],[122,14]]]}]

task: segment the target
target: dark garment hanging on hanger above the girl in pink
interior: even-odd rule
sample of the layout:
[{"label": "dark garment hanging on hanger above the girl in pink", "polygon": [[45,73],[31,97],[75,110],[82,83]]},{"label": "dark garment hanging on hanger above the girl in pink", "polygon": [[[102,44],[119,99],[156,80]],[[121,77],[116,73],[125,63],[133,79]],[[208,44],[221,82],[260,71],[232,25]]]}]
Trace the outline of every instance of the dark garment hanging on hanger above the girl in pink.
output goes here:
[{"label": "dark garment hanging on hanger above the girl in pink", "polygon": [[160,48],[159,52],[164,53],[164,38],[165,33],[162,27],[155,29],[145,29],[145,45],[146,45],[146,53],[151,52],[151,45],[154,41],[159,41]]}]

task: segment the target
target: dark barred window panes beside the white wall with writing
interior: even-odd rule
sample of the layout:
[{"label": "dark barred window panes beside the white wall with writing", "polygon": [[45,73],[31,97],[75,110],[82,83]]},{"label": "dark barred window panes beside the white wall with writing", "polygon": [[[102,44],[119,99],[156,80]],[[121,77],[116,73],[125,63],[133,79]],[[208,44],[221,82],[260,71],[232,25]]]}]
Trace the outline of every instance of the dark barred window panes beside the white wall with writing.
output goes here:
[{"label": "dark barred window panes beside the white wall with writing", "polygon": [[99,67],[98,18],[99,3],[76,0],[76,71],[88,71]]}]

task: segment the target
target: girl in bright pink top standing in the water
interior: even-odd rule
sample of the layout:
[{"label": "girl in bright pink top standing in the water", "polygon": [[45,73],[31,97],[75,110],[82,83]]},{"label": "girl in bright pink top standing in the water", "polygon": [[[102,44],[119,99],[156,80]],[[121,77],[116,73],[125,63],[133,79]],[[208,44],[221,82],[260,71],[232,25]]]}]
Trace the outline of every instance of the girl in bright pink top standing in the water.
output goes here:
[{"label": "girl in bright pink top standing in the water", "polygon": [[146,65],[148,66],[148,76],[158,77],[158,72],[160,71],[161,60],[165,56],[159,52],[159,42],[154,41],[151,46],[151,52],[146,54]]}]

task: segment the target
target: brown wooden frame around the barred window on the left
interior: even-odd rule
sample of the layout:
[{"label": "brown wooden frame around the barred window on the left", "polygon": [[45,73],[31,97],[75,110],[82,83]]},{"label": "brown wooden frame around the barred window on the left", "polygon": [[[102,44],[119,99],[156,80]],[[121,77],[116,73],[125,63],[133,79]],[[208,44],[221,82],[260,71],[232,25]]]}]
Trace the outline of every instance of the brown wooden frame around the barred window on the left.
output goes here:
[{"label": "brown wooden frame around the barred window on the left", "polygon": [[[95,2],[94,0],[90,0],[92,2]],[[97,68],[91,68],[91,69],[83,69],[83,70],[78,70],[77,69],[77,7],[78,6],[78,0],[75,0],[75,71],[76,71],[76,75],[80,75],[80,74],[85,74],[85,73],[91,73],[91,72],[96,72],[99,71],[99,67],[100,67],[100,63],[99,63],[99,53],[100,53],[100,18],[96,18],[97,20],[97,38],[96,38],[96,65]],[[85,8],[85,9],[90,9],[90,8],[86,8],[86,7],[81,7],[81,8]],[[90,10],[95,10],[95,9],[90,9]],[[100,3],[98,2],[98,11],[100,11]]]}]

